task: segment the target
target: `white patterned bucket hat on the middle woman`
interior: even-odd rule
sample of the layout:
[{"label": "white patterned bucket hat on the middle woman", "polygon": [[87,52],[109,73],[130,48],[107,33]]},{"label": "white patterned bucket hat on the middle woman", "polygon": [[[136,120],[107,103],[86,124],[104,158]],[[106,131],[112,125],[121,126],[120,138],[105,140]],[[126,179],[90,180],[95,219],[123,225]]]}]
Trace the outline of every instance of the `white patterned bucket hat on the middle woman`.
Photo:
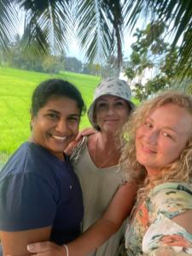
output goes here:
[{"label": "white patterned bucket hat on the middle woman", "polygon": [[98,129],[98,125],[94,120],[94,108],[96,106],[96,99],[103,95],[112,95],[119,96],[124,99],[126,102],[129,102],[131,110],[135,108],[133,102],[131,102],[131,88],[130,86],[121,79],[104,79],[98,86],[96,87],[96,91],[93,97],[93,102],[88,109],[88,119],[90,120],[90,124]]}]

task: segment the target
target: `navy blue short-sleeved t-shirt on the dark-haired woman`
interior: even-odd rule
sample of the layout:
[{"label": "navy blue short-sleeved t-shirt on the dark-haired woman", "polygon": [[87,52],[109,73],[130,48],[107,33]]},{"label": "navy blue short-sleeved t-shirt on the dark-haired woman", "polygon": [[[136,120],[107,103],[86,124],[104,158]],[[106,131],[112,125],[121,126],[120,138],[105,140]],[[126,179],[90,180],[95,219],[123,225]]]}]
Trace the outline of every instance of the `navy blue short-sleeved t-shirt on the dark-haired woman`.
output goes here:
[{"label": "navy blue short-sleeved t-shirt on the dark-haired woman", "polygon": [[64,162],[35,143],[22,144],[0,172],[0,209],[0,230],[52,225],[51,241],[73,241],[84,211],[68,158]]}]

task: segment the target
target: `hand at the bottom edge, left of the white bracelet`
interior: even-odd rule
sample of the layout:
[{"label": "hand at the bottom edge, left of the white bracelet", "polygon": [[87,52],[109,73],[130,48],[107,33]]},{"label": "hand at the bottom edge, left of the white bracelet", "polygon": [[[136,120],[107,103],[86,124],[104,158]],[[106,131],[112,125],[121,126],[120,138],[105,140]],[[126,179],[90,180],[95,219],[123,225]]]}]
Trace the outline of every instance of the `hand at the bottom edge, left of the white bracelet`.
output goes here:
[{"label": "hand at the bottom edge, left of the white bracelet", "polygon": [[67,250],[51,241],[41,241],[27,245],[30,253],[37,256],[67,256]]}]

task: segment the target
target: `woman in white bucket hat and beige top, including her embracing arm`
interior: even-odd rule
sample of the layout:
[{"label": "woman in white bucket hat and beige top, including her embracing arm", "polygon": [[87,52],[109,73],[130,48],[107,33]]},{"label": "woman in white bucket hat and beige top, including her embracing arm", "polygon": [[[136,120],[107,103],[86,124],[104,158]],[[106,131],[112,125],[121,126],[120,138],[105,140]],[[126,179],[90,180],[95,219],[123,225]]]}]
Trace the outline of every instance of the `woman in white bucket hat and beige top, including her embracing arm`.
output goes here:
[{"label": "woman in white bucket hat and beige top, including her embracing arm", "polygon": [[[103,231],[101,226],[97,229],[98,232],[93,230],[92,234],[95,236],[93,236],[93,241],[86,240],[88,244],[90,243],[90,248],[94,247],[93,243],[101,244],[104,241],[102,236],[101,239],[97,239],[99,233],[103,237],[105,233],[108,234],[107,236],[114,233],[131,212],[136,195],[136,185],[135,183],[125,183],[124,173],[118,170],[118,163],[121,154],[119,131],[129,118],[133,108],[131,89],[125,81],[120,79],[102,80],[102,83],[96,88],[94,100],[88,110],[90,124],[96,129],[96,133],[84,137],[71,156],[74,171],[79,176],[83,191],[82,231],[87,230],[102,218],[103,214],[107,221],[112,219],[113,222],[113,228],[108,229],[111,224],[105,227],[103,224]],[[116,193],[117,191],[118,193]],[[119,209],[119,211],[113,212],[113,208]],[[107,209],[108,211],[105,212]],[[87,252],[90,251],[90,248],[85,248],[89,247],[87,244],[86,246],[84,244],[85,254],[80,253],[81,241],[74,243],[74,246],[69,244],[69,254],[73,255],[71,248],[77,245],[81,248],[75,255],[117,255],[120,240],[125,235],[124,228],[125,224],[122,224],[117,233],[89,254]],[[54,247],[49,242],[32,245],[32,249],[30,249],[32,253],[38,253],[37,255],[51,255],[51,252],[56,253],[57,250],[58,247]]]}]

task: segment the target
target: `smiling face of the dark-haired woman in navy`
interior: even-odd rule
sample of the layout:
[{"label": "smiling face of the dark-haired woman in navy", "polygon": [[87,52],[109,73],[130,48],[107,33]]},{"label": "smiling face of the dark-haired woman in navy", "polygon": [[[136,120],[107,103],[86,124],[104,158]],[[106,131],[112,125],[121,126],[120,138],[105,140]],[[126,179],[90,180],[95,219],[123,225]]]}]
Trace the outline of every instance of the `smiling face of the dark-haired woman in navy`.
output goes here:
[{"label": "smiling face of the dark-haired woman in navy", "polygon": [[32,116],[32,142],[63,160],[63,152],[79,132],[77,102],[68,97],[54,97]]}]

